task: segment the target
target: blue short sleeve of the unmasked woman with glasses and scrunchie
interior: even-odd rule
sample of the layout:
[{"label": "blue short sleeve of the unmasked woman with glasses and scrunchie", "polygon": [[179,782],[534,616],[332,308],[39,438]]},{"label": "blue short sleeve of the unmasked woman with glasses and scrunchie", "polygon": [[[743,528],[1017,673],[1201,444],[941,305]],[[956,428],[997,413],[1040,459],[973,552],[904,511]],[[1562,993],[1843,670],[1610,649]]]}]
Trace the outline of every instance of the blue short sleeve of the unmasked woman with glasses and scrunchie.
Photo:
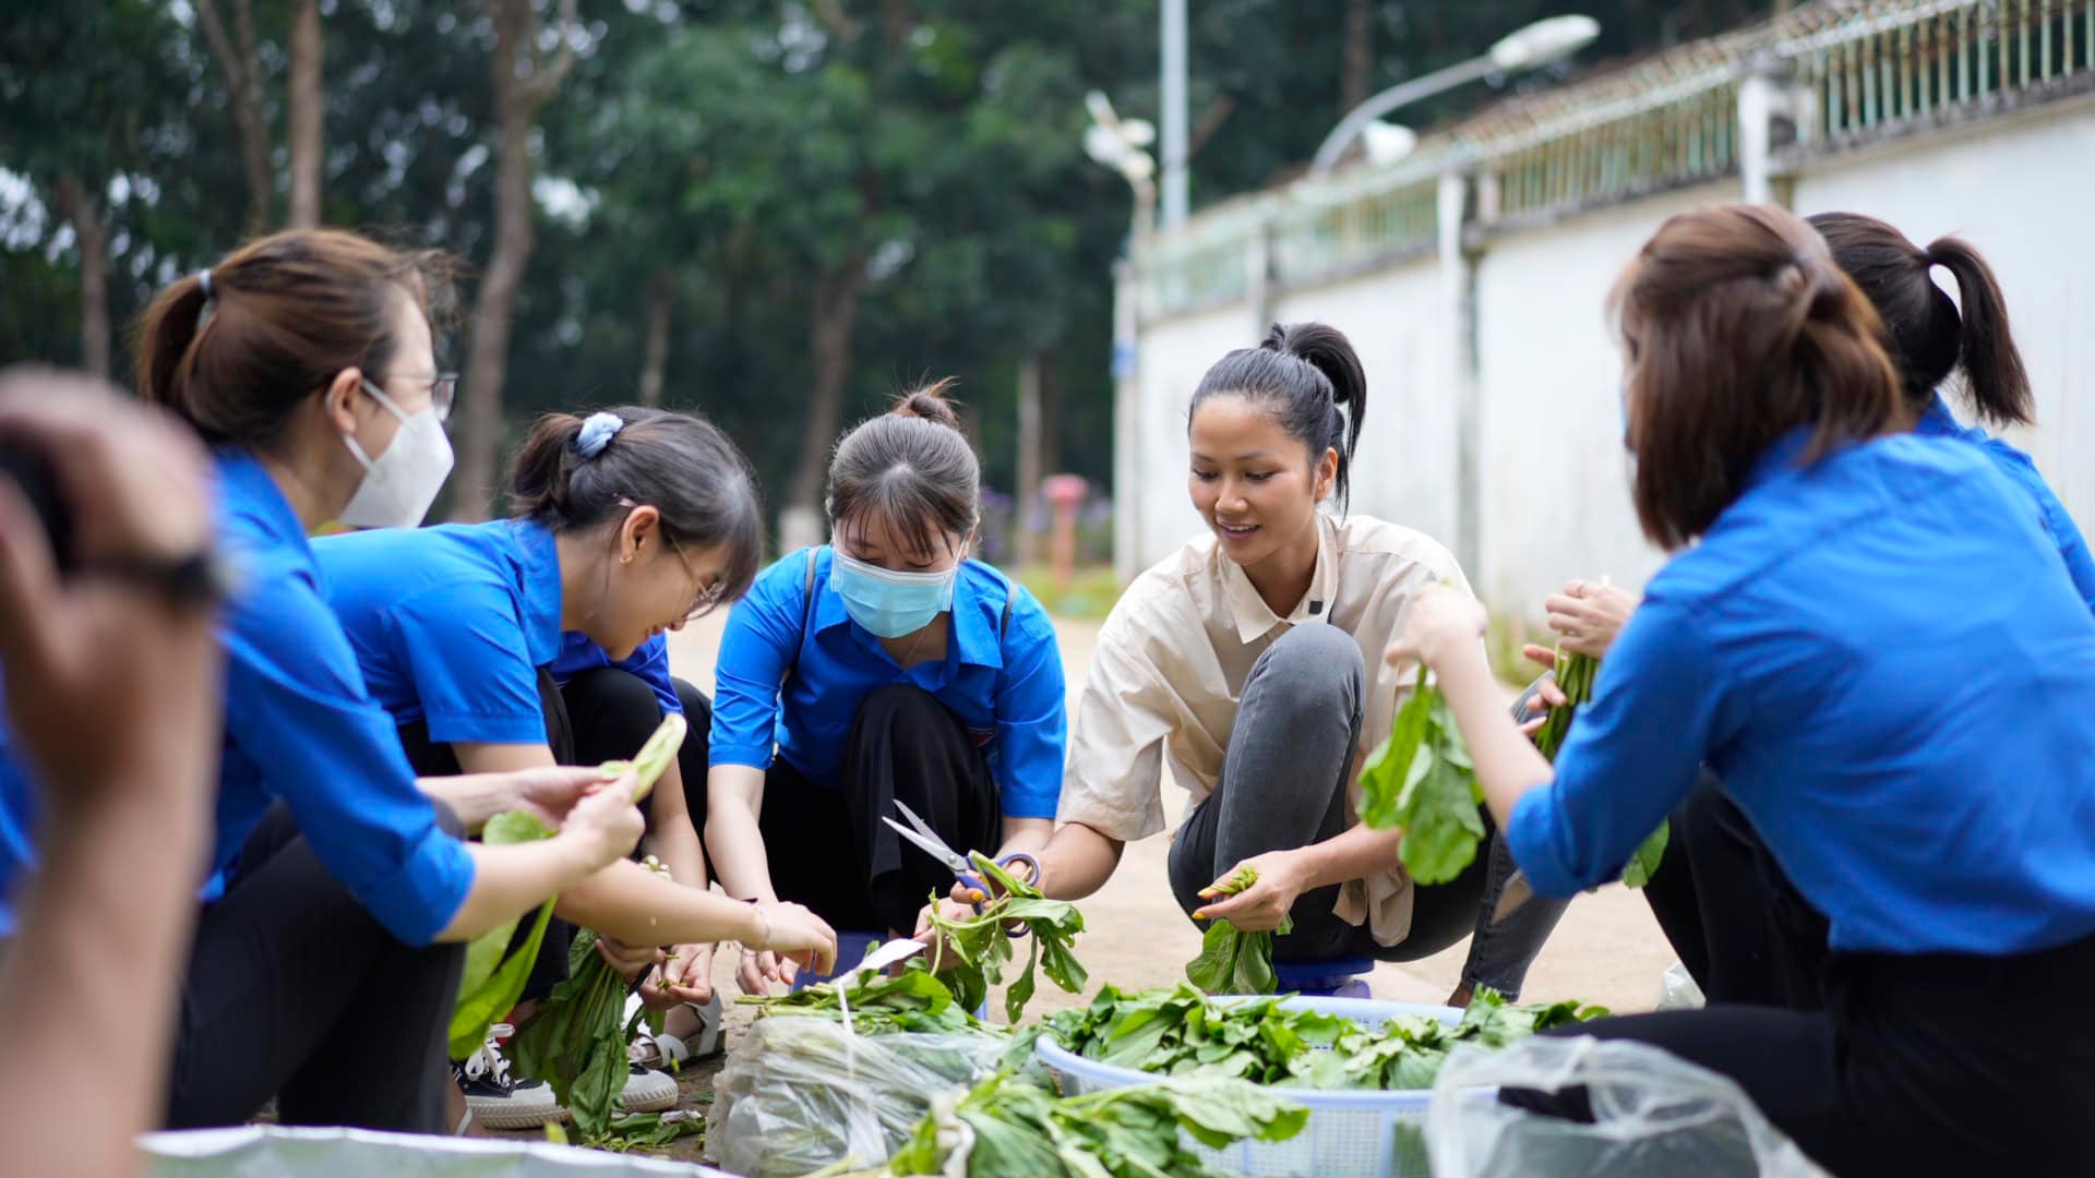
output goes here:
[{"label": "blue short sleeve of the unmasked woman with glasses and scrunchie", "polygon": [[538,669],[503,587],[469,581],[425,589],[388,610],[383,625],[415,683],[429,740],[547,742]]}]

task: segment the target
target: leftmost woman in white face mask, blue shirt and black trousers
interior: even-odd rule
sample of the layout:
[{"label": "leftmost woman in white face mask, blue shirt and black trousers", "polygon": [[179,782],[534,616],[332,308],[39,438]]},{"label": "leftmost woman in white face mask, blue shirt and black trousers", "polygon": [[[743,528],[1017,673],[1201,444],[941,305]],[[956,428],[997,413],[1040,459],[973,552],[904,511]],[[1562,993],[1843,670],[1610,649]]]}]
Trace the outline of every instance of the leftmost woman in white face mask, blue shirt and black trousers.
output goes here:
[{"label": "leftmost woman in white face mask, blue shirt and black trousers", "polygon": [[[272,1096],[285,1124],[446,1128],[457,943],[578,885],[641,832],[620,792],[631,782],[599,788],[582,769],[417,788],[321,597],[306,532],[341,516],[413,524],[450,463],[425,262],[348,233],[279,233],[180,279],[140,323],[140,396],[216,446],[216,535],[237,583],[220,618],[218,826],[176,1019],[172,1128],[241,1124]],[[19,790],[0,786],[0,801],[10,826],[29,822]],[[457,836],[515,807],[559,834]],[[29,864],[8,859],[0,878],[19,880]]]}]

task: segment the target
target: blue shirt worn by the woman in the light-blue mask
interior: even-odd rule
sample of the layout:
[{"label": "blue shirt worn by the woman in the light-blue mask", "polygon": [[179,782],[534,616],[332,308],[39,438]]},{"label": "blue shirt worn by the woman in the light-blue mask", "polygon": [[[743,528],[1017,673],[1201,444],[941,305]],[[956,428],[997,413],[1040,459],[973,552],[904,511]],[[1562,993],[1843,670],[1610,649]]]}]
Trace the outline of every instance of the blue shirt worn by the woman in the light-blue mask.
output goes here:
[{"label": "blue shirt worn by the woman in the light-blue mask", "polygon": [[710,763],[769,769],[777,748],[794,769],[836,788],[859,704],[880,688],[909,683],[930,692],[983,742],[1006,817],[1054,817],[1062,799],[1066,696],[1054,623],[1033,593],[987,564],[964,562],[953,583],[947,656],[903,671],[844,612],[844,599],[830,587],[828,547],[815,551],[809,606],[807,560],[802,549],[767,568],[727,616]]}]

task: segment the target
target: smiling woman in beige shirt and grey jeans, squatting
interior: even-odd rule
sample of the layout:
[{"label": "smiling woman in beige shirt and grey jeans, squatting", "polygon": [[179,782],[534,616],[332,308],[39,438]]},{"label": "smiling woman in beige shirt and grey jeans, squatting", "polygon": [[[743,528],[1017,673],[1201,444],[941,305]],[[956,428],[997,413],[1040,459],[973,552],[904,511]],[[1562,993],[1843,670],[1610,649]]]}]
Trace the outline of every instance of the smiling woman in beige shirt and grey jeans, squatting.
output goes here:
[{"label": "smiling woman in beige shirt and grey jeans, squatting", "polygon": [[[1414,887],[1402,832],[1358,826],[1360,763],[1414,677],[1381,654],[1418,589],[1469,591],[1433,539],[1343,514],[1364,398],[1353,346],[1322,323],[1276,325],[1200,379],[1188,490],[1211,535],[1144,572],[1106,618],[1041,887],[1089,895],[1125,843],[1161,832],[1169,767],[1192,794],[1171,891],[1194,920],[1267,931],[1293,912],[1282,962],[1414,960],[1475,929],[1454,1000],[1475,985],[1517,996],[1563,906],[1490,922],[1513,874],[1496,832],[1460,878]],[[1339,514],[1322,514],[1332,497]],[[1240,864],[1259,882],[1215,897]]]}]

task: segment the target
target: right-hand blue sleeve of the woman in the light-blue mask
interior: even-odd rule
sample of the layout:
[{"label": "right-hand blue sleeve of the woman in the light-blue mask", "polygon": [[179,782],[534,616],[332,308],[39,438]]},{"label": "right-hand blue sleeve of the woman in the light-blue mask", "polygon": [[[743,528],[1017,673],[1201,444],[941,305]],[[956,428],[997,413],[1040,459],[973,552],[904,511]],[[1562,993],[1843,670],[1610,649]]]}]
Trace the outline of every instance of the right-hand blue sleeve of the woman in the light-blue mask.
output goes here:
[{"label": "right-hand blue sleeve of the woman in the light-blue mask", "polygon": [[1006,817],[1054,817],[1062,797],[1068,692],[1054,623],[1031,593],[1012,585],[1012,623],[997,677],[997,757]]}]

